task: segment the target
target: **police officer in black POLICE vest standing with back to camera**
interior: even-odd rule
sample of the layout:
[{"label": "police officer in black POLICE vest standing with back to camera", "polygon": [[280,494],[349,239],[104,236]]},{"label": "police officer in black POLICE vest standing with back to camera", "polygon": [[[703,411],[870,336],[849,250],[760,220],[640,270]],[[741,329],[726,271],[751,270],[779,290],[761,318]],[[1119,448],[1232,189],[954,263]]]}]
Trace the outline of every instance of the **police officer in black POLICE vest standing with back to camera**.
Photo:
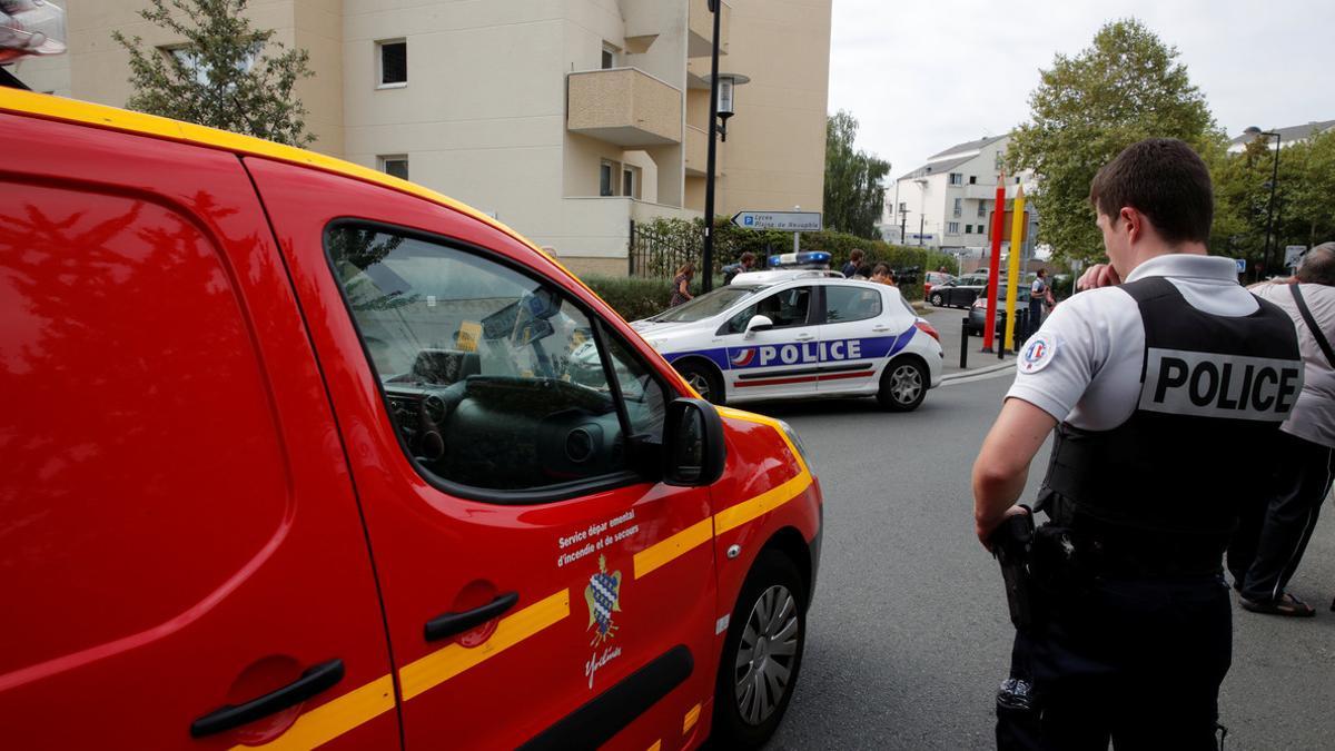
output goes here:
[{"label": "police officer in black POLICE vest standing with back to camera", "polygon": [[1220,560],[1292,409],[1292,321],[1207,255],[1210,172],[1149,139],[1095,178],[1111,265],[1025,343],[973,466],[988,545],[1056,426],[1035,623],[997,695],[1000,748],[1214,748],[1232,623]]}]

